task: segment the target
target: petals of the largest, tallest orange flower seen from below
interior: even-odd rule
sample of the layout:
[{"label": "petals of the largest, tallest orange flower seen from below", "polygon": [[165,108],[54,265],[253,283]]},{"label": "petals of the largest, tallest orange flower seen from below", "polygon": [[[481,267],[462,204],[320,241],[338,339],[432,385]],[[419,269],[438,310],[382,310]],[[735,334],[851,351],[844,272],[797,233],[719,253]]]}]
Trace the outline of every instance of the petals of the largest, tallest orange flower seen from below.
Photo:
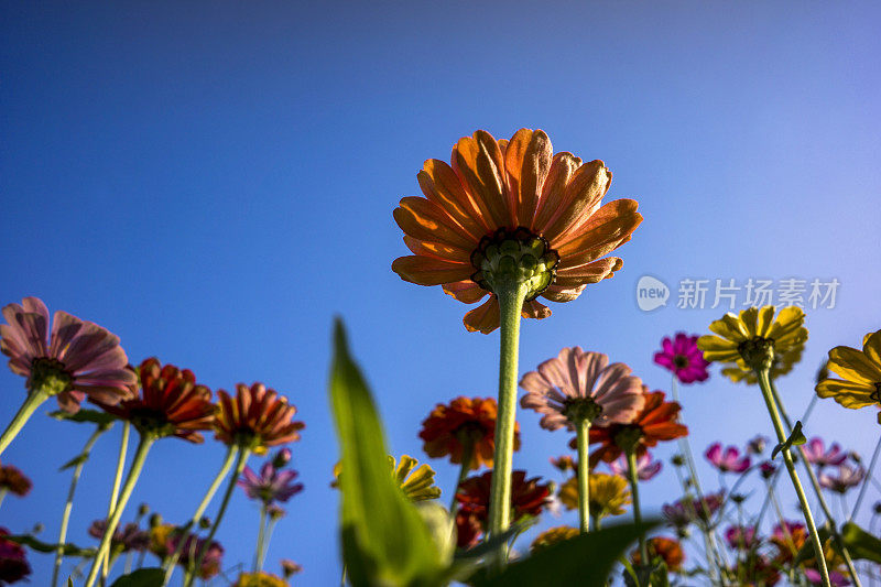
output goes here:
[{"label": "petals of the largest, tallest orange flower seen from below", "polygon": [[488,249],[503,241],[532,254],[543,273],[523,304],[526,318],[551,315],[539,295],[569,302],[621,269],[621,259],[600,258],[630,240],[642,216],[632,199],[602,205],[612,178],[602,161],[583,164],[572,153],[553,154],[547,134],[520,129],[510,141],[482,130],[464,137],[450,162],[426,161],[417,175],[425,197],[405,197],[395,208],[413,254],[395,259],[392,270],[404,281],[443,285],[466,304],[489,294],[465,315],[468,330],[499,327],[499,301],[483,262]]}]

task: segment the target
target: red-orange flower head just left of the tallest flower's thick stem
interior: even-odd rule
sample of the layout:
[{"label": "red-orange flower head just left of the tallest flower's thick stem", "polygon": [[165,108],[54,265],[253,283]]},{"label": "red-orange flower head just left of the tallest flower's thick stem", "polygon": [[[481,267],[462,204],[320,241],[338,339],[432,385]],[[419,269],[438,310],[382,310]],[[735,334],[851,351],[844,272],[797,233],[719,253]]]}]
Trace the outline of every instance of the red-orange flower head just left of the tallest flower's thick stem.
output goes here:
[{"label": "red-orange flower head just left of the tallest flower's thick stem", "polygon": [[[492,467],[497,407],[492,398],[459,396],[449,405],[438,403],[422,423],[423,450],[433,458],[449,455],[450,463],[461,463],[465,443],[470,442],[469,469]],[[520,424],[514,423],[514,450],[519,449]]]}]

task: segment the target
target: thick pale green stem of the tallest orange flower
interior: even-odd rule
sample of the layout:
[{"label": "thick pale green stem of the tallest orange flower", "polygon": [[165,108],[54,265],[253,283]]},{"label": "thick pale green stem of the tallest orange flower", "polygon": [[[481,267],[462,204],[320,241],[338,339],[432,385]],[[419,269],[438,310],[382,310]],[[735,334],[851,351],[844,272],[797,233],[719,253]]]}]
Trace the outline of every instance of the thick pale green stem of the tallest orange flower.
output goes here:
[{"label": "thick pale green stem of the tallest orange flower", "polygon": [[[499,411],[496,420],[496,454],[489,499],[489,535],[508,530],[511,523],[511,469],[516,418],[516,378],[520,347],[520,313],[526,284],[509,282],[496,292],[501,322],[499,351]],[[508,559],[508,544],[499,546],[499,563]]]}]

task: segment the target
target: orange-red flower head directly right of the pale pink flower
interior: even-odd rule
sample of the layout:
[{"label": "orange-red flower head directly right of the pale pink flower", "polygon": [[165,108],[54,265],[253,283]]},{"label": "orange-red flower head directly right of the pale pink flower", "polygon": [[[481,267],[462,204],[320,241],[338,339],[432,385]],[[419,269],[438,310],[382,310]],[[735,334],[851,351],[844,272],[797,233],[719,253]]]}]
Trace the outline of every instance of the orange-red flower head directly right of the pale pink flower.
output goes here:
[{"label": "orange-red flower head directly right of the pale pink flower", "polygon": [[[624,453],[626,443],[635,443],[637,457],[645,454],[648,448],[659,441],[672,441],[686,436],[688,428],[677,422],[682,406],[676,402],[665,402],[663,391],[645,393],[645,406],[632,424],[612,424],[611,426],[591,426],[590,444],[600,446],[590,454],[590,465],[600,459],[611,463]],[[569,443],[574,446],[575,439]]]}]

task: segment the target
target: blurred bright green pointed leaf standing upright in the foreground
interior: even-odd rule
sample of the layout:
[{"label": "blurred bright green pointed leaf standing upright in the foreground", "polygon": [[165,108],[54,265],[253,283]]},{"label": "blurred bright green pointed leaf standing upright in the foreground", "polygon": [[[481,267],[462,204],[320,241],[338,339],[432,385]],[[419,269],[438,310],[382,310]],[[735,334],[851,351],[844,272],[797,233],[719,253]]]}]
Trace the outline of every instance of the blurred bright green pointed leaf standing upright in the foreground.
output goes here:
[{"label": "blurred bright green pointed leaf standing upright in the foreground", "polygon": [[389,475],[382,424],[342,322],[334,331],[330,402],[340,439],[342,558],[360,585],[437,585],[442,563],[428,528]]}]

